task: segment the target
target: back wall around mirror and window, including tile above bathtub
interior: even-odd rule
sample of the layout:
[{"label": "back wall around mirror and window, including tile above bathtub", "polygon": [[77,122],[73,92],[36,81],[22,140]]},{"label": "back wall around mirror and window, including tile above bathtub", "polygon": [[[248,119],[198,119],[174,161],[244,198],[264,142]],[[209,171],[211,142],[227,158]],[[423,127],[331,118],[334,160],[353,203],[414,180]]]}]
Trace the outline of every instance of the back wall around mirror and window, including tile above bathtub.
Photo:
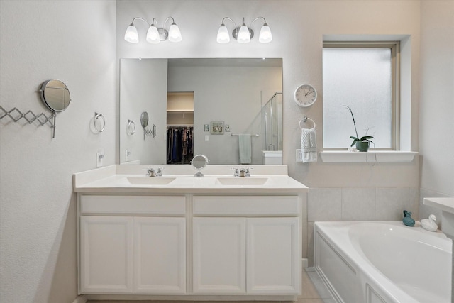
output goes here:
[{"label": "back wall around mirror and window, including tile above bathtub", "polygon": [[[239,10],[238,8],[241,7]],[[140,16],[157,18],[160,26],[167,16],[175,18],[182,31],[181,43],[145,42],[146,24],[138,23],[142,40],[133,45],[123,40],[126,27]],[[222,18],[237,23],[244,17],[250,23],[264,16],[273,34],[272,43],[257,39],[241,45],[232,40],[216,43]],[[228,28],[232,26],[226,23]],[[259,31],[260,22],[253,29]],[[284,106],[284,164],[289,175],[310,187],[304,221],[304,256],[311,252],[313,221],[345,219],[402,218],[402,209],[417,217],[419,158],[409,163],[323,163],[295,162],[301,131],[299,120],[307,115],[317,127],[317,142],[322,142],[322,47],[323,35],[410,35],[411,58],[403,61],[411,67],[408,120],[411,135],[406,144],[418,150],[419,119],[419,1],[117,1],[117,59],[123,57],[282,57]],[[404,43],[405,48],[410,45]],[[319,92],[313,106],[303,109],[293,101],[295,87],[310,83]],[[370,189],[364,192],[363,189]],[[312,194],[311,194],[312,193]],[[309,243],[309,246],[308,246]],[[308,248],[308,249],[306,249]],[[310,256],[310,255],[309,255]]]}]

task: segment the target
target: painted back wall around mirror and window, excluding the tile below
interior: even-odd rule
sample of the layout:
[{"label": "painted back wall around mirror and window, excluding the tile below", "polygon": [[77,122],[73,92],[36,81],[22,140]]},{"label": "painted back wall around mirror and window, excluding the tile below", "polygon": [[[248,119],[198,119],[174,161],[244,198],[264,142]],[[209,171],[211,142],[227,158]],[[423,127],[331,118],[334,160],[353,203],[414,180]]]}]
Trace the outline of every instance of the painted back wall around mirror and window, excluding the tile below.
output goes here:
[{"label": "painted back wall around mirror and window, excluding the tile below", "polygon": [[[238,7],[241,6],[241,11]],[[310,12],[310,13],[307,13]],[[179,25],[181,43],[145,42],[147,26],[138,23],[140,43],[123,40],[126,27],[135,16],[157,18],[160,24],[173,16]],[[247,45],[232,40],[228,45],[216,43],[218,26],[224,16],[240,21],[265,16],[272,28],[272,43],[260,44],[257,39]],[[260,24],[258,23],[258,26]],[[254,27],[253,27],[254,28]],[[254,28],[257,29],[257,28]],[[296,163],[299,145],[298,122],[306,114],[319,126],[318,142],[323,133],[321,48],[323,34],[408,34],[412,35],[412,81],[418,84],[419,70],[419,1],[117,1],[117,58],[121,57],[282,57],[284,82],[284,162],[292,177],[309,187],[384,187],[418,185],[418,163],[410,165],[345,165]],[[302,82],[313,84],[319,101],[309,109],[294,103],[294,88]],[[417,150],[418,85],[412,96],[413,149]],[[415,116],[416,115],[416,116]],[[321,146],[319,146],[319,149]],[[370,167],[364,175],[358,167]],[[389,176],[389,167],[401,172]],[[333,173],[335,172],[335,173]],[[369,175],[370,174],[370,175]],[[412,177],[404,178],[402,175]]]}]

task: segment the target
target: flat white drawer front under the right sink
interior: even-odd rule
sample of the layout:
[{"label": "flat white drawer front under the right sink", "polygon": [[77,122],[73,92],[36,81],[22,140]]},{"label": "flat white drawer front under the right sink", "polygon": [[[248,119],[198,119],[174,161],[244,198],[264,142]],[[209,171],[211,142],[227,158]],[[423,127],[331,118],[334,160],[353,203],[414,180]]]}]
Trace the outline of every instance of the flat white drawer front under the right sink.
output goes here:
[{"label": "flat white drawer front under the right sink", "polygon": [[298,196],[194,196],[194,214],[298,215]]}]

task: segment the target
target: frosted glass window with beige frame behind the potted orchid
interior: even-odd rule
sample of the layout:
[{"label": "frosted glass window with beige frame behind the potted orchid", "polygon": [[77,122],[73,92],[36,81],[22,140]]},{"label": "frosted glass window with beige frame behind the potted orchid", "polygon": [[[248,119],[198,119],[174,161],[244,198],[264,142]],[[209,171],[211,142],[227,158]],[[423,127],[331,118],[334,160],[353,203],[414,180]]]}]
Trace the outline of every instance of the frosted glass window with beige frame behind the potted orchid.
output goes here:
[{"label": "frosted glass window with beige frame behind the potted orchid", "polygon": [[[399,43],[323,43],[323,148],[343,149],[356,136],[399,149]],[[372,145],[373,147],[374,145]]]}]

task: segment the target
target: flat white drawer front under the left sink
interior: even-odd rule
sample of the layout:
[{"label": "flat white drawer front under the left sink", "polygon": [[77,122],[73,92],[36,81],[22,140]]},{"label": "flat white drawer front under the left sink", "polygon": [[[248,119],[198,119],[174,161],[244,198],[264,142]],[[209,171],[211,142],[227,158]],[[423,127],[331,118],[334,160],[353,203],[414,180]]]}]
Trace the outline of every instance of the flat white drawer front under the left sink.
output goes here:
[{"label": "flat white drawer front under the left sink", "polygon": [[80,197],[81,214],[185,214],[184,196]]}]

